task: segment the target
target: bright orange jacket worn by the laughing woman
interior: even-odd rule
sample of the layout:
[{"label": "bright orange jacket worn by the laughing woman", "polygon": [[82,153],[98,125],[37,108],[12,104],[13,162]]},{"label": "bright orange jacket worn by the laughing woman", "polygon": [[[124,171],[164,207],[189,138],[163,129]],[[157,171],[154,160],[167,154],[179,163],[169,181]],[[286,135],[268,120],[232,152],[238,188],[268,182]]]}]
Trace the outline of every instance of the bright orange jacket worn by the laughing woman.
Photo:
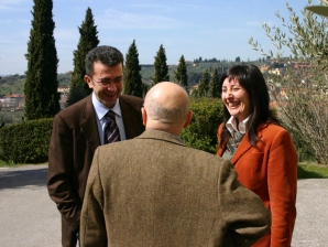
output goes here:
[{"label": "bright orange jacket worn by the laughing woman", "polygon": [[[223,124],[218,129],[218,140]],[[259,127],[256,148],[245,133],[231,162],[238,180],[256,193],[271,210],[271,232],[254,246],[291,246],[296,218],[297,154],[291,135],[283,127],[263,124]],[[226,146],[219,147],[222,155]]]}]

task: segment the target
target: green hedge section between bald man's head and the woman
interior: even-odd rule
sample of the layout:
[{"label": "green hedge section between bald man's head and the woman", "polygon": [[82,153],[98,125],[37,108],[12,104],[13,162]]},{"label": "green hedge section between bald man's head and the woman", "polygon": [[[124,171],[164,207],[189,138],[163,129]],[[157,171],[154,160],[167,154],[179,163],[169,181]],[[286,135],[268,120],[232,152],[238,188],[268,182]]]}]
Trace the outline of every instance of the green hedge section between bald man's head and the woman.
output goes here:
[{"label": "green hedge section between bald man's head and the woman", "polygon": [[182,139],[192,148],[217,152],[217,130],[222,121],[223,105],[217,98],[195,98],[190,101],[194,112],[190,125],[183,129]]}]

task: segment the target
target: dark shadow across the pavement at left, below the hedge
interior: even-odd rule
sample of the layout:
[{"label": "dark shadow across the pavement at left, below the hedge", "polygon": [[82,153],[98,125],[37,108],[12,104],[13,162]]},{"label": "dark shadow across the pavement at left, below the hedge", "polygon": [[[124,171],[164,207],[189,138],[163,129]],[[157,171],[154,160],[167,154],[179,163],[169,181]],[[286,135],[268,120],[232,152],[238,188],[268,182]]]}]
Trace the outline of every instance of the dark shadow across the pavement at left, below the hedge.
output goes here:
[{"label": "dark shadow across the pavement at left, below the hedge", "polygon": [[0,190],[15,189],[29,185],[44,186],[46,184],[47,168],[35,170],[1,171]]}]

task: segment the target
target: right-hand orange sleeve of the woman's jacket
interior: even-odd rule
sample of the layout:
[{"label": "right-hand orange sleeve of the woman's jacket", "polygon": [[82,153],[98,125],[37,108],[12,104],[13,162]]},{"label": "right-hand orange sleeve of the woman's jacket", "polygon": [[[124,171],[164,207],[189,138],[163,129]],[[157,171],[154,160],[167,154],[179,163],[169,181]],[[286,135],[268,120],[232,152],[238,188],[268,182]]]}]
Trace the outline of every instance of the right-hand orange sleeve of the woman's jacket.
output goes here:
[{"label": "right-hand orange sleeve of the woman's jacket", "polygon": [[275,135],[267,162],[271,246],[291,246],[296,218],[297,154],[289,133]]}]

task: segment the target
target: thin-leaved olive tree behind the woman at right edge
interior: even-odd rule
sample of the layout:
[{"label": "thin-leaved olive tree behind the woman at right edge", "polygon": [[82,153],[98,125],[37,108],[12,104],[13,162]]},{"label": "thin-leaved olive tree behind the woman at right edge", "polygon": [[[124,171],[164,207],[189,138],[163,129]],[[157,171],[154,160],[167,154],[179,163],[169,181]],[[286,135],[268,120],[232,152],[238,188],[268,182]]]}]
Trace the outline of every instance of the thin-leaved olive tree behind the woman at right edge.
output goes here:
[{"label": "thin-leaved olive tree behind the woman at right edge", "polygon": [[[308,3],[310,4],[311,1],[308,0]],[[276,12],[282,28],[263,24],[266,36],[276,47],[276,54],[272,51],[264,52],[253,39],[250,39],[249,43],[254,50],[262,52],[263,56],[275,57],[277,61],[282,61],[284,51],[292,53],[288,58],[285,58],[285,64],[288,66],[284,74],[267,75],[271,96],[280,118],[291,132],[297,133],[297,139],[299,137],[299,140],[305,143],[302,144],[299,153],[302,159],[304,155],[307,157],[310,150],[318,163],[327,164],[328,21],[307,10],[302,11],[303,18],[299,18],[288,3],[286,7],[289,19]]]}]

